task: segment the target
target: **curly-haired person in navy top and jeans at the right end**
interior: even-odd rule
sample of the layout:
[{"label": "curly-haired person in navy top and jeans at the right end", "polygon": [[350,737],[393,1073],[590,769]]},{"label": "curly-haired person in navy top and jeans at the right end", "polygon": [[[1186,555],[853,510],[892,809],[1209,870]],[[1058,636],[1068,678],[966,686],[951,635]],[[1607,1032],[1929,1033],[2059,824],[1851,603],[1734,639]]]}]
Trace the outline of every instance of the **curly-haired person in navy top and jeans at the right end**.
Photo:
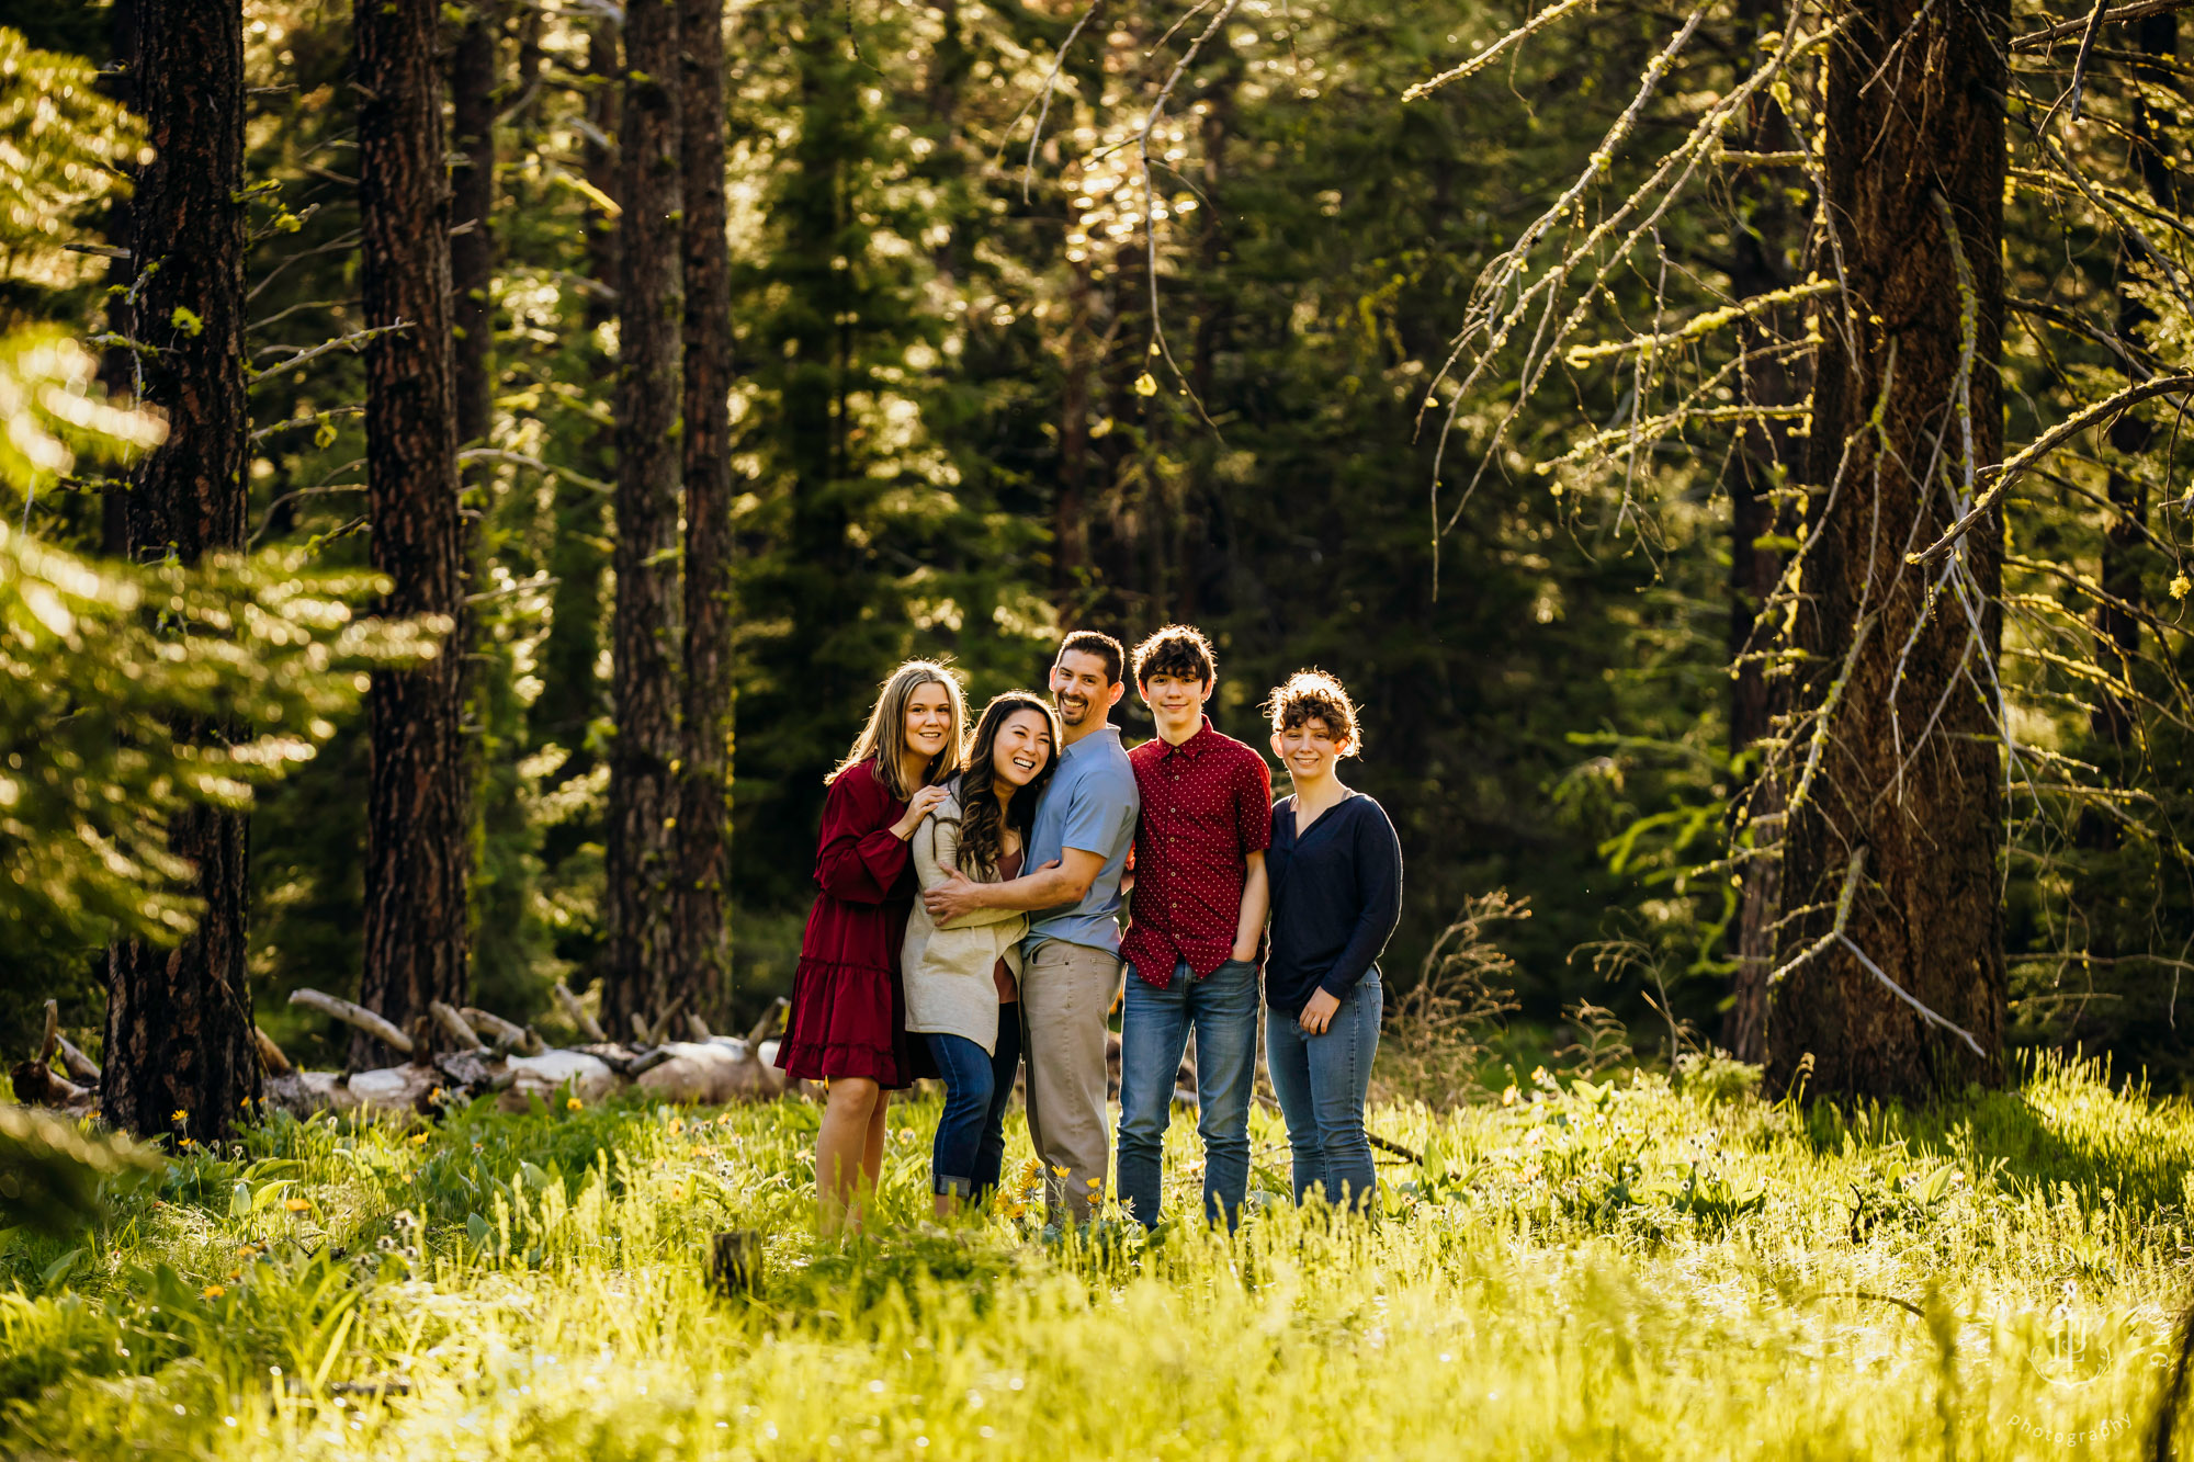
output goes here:
[{"label": "curly-haired person in navy top and jeans at the right end", "polygon": [[1362,738],[1341,681],[1301,670],[1273,691],[1273,755],[1294,795],[1273,803],[1264,1056],[1288,1120],[1294,1199],[1369,1207],[1378,1194],[1365,1095],[1384,1005],[1378,957],[1402,918],[1402,843],[1387,810],[1343,786]]}]

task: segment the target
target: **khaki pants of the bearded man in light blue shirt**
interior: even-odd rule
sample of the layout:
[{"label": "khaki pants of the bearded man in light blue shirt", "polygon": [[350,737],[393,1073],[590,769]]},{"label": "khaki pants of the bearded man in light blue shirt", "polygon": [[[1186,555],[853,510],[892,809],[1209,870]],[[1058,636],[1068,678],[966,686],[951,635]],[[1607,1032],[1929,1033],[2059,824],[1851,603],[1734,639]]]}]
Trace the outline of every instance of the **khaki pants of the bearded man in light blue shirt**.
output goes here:
[{"label": "khaki pants of the bearded man in light blue shirt", "polygon": [[[1075,1223],[1106,1181],[1106,1016],[1119,990],[1119,955],[1044,940],[1020,979],[1020,1021],[1029,1060],[1029,1144],[1044,1163],[1044,1210],[1060,1205]],[[1066,1174],[1060,1174],[1066,1168]]]}]

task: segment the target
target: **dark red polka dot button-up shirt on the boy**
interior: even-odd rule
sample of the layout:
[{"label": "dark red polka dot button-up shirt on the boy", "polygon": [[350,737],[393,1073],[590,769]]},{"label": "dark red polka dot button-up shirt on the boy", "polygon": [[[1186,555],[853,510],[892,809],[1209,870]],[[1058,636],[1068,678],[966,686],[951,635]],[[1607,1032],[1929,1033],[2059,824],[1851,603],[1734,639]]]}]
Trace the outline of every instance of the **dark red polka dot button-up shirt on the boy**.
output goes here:
[{"label": "dark red polka dot button-up shirt on the boy", "polygon": [[1273,843],[1273,773],[1211,729],[1172,746],[1154,735],[1128,753],[1143,814],[1134,825],[1134,902],[1119,953],[1158,990],[1183,959],[1196,979],[1233,955],[1248,854]]}]

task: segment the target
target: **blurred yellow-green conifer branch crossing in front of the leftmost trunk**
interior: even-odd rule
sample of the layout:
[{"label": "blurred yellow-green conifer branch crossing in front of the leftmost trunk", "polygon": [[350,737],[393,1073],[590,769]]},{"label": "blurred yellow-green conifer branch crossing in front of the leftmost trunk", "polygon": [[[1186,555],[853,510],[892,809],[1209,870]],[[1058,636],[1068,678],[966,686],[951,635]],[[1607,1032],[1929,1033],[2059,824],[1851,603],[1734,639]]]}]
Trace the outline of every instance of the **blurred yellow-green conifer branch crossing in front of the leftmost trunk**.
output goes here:
[{"label": "blurred yellow-green conifer branch crossing in front of the leftmost trunk", "polygon": [[[165,819],[250,806],[369,667],[434,654],[423,626],[353,619],[373,586],[294,553],[92,566],[0,525],[0,920],[42,942],[182,937],[193,898]],[[178,720],[233,731],[191,744]]]}]

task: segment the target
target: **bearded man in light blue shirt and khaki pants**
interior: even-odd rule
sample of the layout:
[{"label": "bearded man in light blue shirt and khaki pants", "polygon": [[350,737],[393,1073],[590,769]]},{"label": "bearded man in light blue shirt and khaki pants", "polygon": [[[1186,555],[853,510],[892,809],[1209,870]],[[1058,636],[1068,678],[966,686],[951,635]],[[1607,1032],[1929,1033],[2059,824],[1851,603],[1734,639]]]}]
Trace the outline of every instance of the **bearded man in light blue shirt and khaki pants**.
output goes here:
[{"label": "bearded man in light blue shirt and khaki pants", "polygon": [[1075,630],[1051,665],[1051,700],[1066,746],[1029,832],[1033,871],[1009,882],[952,876],[924,893],[930,915],[974,909],[1033,913],[1022,944],[1020,1021],[1029,1054],[1029,1142],[1044,1163],[1044,1205],[1082,1223],[1104,1196],[1106,1016],[1119,990],[1119,880],[1141,797],[1112,707],[1126,652],[1110,634]]}]

